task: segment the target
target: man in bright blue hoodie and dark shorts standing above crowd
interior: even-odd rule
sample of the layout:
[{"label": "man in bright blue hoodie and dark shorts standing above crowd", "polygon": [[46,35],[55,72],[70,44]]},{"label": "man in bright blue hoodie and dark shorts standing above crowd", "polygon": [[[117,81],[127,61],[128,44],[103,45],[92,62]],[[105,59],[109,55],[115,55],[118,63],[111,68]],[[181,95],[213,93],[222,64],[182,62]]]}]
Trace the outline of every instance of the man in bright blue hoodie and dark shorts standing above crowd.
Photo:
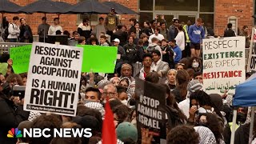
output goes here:
[{"label": "man in bright blue hoodie and dark shorts standing above crowd", "polygon": [[191,57],[199,57],[202,38],[205,38],[205,30],[202,28],[202,18],[198,18],[197,22],[193,26],[190,26],[189,37]]}]

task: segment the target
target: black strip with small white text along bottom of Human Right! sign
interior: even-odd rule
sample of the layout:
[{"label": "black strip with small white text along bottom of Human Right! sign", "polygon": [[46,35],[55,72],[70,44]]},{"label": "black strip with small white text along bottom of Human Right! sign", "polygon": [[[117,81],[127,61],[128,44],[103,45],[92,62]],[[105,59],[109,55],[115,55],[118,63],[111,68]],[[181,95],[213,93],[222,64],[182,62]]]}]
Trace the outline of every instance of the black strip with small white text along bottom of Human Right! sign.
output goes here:
[{"label": "black strip with small white text along bottom of Human Right! sign", "polygon": [[38,110],[52,113],[74,114],[74,110],[62,109],[49,106],[26,105],[26,110]]}]

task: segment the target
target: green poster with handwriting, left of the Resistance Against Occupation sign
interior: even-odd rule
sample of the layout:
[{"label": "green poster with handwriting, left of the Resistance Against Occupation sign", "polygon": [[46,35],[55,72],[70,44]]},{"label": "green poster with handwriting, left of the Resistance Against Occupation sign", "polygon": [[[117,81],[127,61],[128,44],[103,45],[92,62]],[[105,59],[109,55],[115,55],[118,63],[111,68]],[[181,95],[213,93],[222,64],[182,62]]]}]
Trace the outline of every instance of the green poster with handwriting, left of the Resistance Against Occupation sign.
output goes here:
[{"label": "green poster with handwriting, left of the Resistance Against Occupation sign", "polygon": [[30,52],[32,45],[10,48],[10,58],[13,60],[15,74],[26,73],[30,66]]}]

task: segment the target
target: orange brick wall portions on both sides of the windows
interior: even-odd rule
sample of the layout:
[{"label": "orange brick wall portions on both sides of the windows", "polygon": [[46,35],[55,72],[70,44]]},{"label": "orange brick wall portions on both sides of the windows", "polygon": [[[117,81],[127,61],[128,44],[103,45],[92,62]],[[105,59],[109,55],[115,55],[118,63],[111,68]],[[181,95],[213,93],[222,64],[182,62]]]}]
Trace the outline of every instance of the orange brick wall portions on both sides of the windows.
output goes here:
[{"label": "orange brick wall portions on both sides of the windows", "polygon": [[[26,6],[27,3],[34,2],[35,0],[10,0],[17,3],[20,6]],[[100,2],[106,2],[108,0],[99,0]],[[166,0],[167,1],[167,0]],[[62,0],[62,2],[68,2],[70,4],[77,3],[77,0]],[[124,6],[129,7],[134,11],[138,11],[138,0],[111,0],[111,2],[118,2]],[[242,10],[238,12],[235,10]],[[253,0],[215,0],[215,14],[214,14],[214,30],[215,34],[223,35],[226,29],[226,24],[230,16],[238,18],[238,27],[242,29],[242,26],[247,25],[251,28],[253,24]],[[20,18],[26,18],[26,22],[31,26],[33,34],[37,34],[38,25],[41,23],[41,18],[44,14],[4,14],[12,19],[14,15],[18,15]],[[102,14],[102,17],[106,17],[106,14]],[[46,14],[48,23],[52,24],[53,19],[58,17],[57,14]],[[138,18],[137,15],[125,14],[121,16],[121,21],[128,28],[130,27],[129,19]],[[60,22],[63,30],[68,30],[70,33],[77,29],[77,14],[61,14]]]}]

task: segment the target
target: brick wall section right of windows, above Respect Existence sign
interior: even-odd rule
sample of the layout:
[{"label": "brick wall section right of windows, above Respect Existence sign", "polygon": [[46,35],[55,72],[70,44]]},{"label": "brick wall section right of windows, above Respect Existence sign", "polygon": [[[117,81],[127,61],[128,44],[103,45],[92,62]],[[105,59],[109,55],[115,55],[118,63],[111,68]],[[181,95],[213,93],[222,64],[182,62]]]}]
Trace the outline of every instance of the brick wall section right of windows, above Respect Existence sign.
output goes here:
[{"label": "brick wall section right of windows, above Respect Existence sign", "polygon": [[[230,16],[238,18],[238,28],[249,26],[251,29],[253,24],[253,0],[215,0],[214,14],[214,30],[218,35],[223,35],[226,29],[226,24]],[[242,10],[243,12],[237,11]]]}]

